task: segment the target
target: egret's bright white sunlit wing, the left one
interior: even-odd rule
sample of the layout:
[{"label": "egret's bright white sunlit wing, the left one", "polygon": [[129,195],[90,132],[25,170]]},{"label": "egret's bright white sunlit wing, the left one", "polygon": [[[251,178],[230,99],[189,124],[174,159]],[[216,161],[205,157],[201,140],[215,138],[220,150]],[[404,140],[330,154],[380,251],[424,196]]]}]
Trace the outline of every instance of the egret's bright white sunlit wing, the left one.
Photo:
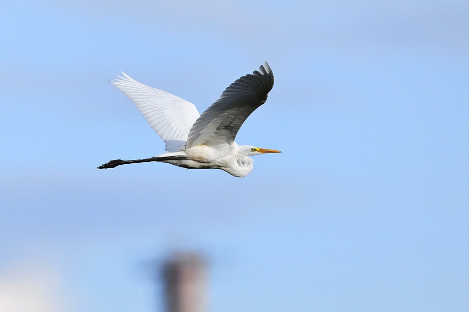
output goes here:
[{"label": "egret's bright white sunlit wing, the left one", "polygon": [[156,134],[166,143],[165,150],[177,152],[185,144],[199,113],[194,104],[171,93],[151,88],[125,73],[111,82],[137,106]]}]

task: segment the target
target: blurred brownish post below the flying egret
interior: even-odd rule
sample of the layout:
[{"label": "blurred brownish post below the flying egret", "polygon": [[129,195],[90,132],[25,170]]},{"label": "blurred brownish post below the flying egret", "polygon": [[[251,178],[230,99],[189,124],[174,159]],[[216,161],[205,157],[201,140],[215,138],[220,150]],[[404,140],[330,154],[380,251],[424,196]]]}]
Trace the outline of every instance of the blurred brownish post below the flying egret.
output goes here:
[{"label": "blurred brownish post below the flying egret", "polygon": [[206,261],[196,253],[177,253],[163,266],[167,312],[207,312]]}]

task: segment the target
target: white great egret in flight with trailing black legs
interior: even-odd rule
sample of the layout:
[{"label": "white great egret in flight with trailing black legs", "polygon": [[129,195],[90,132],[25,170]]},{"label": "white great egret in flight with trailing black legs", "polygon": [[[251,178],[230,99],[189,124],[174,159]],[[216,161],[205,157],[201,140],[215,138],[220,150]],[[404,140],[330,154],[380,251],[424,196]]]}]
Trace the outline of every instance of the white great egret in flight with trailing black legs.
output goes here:
[{"label": "white great egret in flight with trailing black legs", "polygon": [[267,62],[253,75],[233,82],[199,116],[194,104],[168,92],[146,86],[122,73],[111,81],[130,98],[151,128],[166,143],[169,153],[136,160],[111,160],[98,169],[137,162],[160,161],[187,169],[221,169],[243,177],[253,170],[248,156],[281,153],[250,145],[237,145],[235,137],[244,120],[267,100],[274,75]]}]

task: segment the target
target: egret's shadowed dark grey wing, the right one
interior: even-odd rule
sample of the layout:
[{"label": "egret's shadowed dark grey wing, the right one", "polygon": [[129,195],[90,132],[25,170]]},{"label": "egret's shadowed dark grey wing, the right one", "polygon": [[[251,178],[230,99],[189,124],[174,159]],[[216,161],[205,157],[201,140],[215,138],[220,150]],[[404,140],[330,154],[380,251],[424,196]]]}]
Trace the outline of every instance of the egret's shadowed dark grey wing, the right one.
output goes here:
[{"label": "egret's shadowed dark grey wing, the right one", "polygon": [[274,75],[267,62],[253,75],[237,79],[194,122],[186,149],[200,144],[233,142],[243,122],[265,103],[273,86]]}]

